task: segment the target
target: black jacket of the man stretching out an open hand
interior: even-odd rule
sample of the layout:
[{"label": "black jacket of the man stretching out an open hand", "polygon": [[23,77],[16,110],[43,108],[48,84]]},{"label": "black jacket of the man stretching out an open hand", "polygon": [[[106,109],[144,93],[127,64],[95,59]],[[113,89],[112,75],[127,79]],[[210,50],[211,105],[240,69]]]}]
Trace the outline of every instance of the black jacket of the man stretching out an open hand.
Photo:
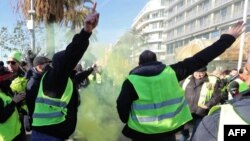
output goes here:
[{"label": "black jacket of the man stretching out an open hand", "polygon": [[[211,46],[205,48],[204,50],[198,52],[193,57],[187,58],[184,61],[178,62],[176,64],[170,65],[170,67],[175,71],[177,79],[179,81],[185,79],[191,75],[196,70],[207,66],[214,58],[222,54],[230,45],[235,41],[235,38],[231,35],[224,34],[221,38],[216,41]],[[162,72],[164,65],[160,62],[153,62],[145,65],[141,65],[132,70],[133,73],[137,73],[142,76],[153,76]],[[138,95],[135,92],[132,84],[125,80],[119,97],[117,98],[117,111],[119,117],[125,127],[123,128],[123,134],[132,139],[138,140],[156,140],[157,138],[165,137],[175,133],[176,131],[160,133],[160,134],[143,134],[137,132],[127,126],[127,121],[129,118],[130,107],[134,100],[138,99]]]}]

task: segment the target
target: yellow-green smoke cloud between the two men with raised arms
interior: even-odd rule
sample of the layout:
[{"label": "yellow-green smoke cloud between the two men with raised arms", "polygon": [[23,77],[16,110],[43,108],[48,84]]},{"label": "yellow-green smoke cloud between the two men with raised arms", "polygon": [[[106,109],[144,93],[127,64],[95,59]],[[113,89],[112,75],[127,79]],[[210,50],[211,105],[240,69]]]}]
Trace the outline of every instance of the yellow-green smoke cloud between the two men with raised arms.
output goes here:
[{"label": "yellow-green smoke cloud between the two men with raised arms", "polygon": [[[114,48],[106,48],[97,60],[101,65],[102,83],[92,81],[81,91],[81,105],[75,137],[80,141],[127,140],[121,135],[124,126],[116,110],[121,85],[132,68],[128,56],[133,34],[126,34]],[[134,44],[136,42],[133,42]]]}]

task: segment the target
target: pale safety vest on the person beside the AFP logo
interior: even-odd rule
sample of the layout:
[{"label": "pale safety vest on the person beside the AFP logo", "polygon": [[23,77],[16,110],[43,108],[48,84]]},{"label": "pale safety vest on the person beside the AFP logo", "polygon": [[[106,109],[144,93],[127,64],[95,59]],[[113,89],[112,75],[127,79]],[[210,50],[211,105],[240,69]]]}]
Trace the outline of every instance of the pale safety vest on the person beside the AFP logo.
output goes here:
[{"label": "pale safety vest on the person beside the AFP logo", "polygon": [[209,112],[209,115],[211,115],[218,109],[221,109],[221,111],[220,111],[220,121],[219,121],[217,141],[224,141],[224,125],[248,124],[237,114],[237,112],[234,110],[231,104],[224,104],[212,107],[211,112]]}]

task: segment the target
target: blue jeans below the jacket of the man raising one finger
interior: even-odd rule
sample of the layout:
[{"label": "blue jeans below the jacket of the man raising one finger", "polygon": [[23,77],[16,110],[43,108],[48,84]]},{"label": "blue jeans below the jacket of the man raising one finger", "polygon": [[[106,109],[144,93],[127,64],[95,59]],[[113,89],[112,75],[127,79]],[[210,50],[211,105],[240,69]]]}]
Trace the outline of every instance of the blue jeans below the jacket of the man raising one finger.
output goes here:
[{"label": "blue jeans below the jacket of the man raising one finger", "polygon": [[62,139],[59,139],[57,137],[53,137],[41,132],[32,131],[31,133],[31,140],[32,141],[63,141]]}]

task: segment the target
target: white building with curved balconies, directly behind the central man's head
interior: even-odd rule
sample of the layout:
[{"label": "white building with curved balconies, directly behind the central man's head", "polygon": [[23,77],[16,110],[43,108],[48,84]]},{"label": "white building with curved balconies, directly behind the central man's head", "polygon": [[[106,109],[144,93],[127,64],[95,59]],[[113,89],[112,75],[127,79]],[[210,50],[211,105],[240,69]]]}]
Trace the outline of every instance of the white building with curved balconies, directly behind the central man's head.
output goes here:
[{"label": "white building with curved balconies, directly behind the central man's head", "polygon": [[166,46],[162,45],[165,19],[165,6],[161,0],[150,0],[134,19],[132,29],[141,37],[141,42],[131,48],[133,62],[138,61],[145,49],[154,51],[159,60],[165,60]]}]

